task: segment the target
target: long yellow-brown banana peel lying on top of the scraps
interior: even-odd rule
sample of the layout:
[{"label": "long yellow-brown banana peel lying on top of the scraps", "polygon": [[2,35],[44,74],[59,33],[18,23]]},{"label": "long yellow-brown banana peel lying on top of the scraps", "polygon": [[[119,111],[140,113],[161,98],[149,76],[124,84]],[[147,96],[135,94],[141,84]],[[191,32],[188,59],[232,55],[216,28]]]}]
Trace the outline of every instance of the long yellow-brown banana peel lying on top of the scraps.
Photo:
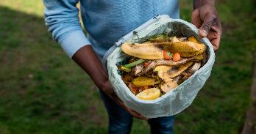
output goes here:
[{"label": "long yellow-brown banana peel lying on top of the scraps", "polygon": [[164,59],[163,51],[180,53],[182,57],[191,57],[205,51],[205,45],[196,42],[148,42],[135,43],[124,42],[121,50],[129,56],[141,59]]}]

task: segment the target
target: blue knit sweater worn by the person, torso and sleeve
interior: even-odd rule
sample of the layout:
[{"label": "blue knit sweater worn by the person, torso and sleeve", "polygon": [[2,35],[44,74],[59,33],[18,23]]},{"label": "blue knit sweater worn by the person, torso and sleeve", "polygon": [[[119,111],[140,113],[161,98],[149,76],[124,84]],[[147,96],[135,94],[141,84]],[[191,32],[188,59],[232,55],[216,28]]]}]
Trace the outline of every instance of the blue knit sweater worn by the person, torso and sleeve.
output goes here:
[{"label": "blue knit sweater worn by the person, torso and sleeve", "polygon": [[119,38],[155,15],[179,18],[177,0],[80,0],[82,31],[76,5],[79,0],[43,0],[49,31],[72,57],[82,46],[92,45],[102,57]]}]

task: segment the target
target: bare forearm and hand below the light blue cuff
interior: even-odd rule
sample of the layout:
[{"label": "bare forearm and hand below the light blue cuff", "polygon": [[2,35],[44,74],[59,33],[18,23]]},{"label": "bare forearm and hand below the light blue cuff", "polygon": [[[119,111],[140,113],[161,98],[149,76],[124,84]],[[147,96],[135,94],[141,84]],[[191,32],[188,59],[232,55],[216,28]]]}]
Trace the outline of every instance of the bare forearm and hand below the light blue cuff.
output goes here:
[{"label": "bare forearm and hand below the light blue cuff", "polygon": [[113,87],[108,80],[107,73],[102,67],[102,63],[90,45],[80,48],[74,54],[72,59],[74,59],[74,62],[76,62],[83,70],[85,70],[88,75],[90,75],[90,78],[93,79],[96,86],[98,86],[99,89],[104,92],[104,94],[107,94],[108,97],[114,100],[115,103],[128,111],[132,116],[138,119],[146,119],[136,111],[132,111],[132,109],[127,108],[127,106],[124,105],[124,103],[116,96],[115,92],[113,91]]}]

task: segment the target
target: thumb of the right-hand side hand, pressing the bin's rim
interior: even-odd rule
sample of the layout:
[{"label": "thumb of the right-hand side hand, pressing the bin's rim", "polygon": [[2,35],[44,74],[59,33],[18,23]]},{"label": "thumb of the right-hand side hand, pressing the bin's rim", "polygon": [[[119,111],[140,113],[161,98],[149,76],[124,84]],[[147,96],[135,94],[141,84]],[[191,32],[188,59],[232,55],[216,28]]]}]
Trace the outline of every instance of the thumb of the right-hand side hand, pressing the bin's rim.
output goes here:
[{"label": "thumb of the right-hand side hand, pressing the bin's rim", "polygon": [[209,33],[211,27],[216,23],[217,18],[216,15],[211,14],[208,12],[205,15],[204,22],[202,23],[202,26],[199,29],[199,34],[201,37],[207,37],[207,34]]}]

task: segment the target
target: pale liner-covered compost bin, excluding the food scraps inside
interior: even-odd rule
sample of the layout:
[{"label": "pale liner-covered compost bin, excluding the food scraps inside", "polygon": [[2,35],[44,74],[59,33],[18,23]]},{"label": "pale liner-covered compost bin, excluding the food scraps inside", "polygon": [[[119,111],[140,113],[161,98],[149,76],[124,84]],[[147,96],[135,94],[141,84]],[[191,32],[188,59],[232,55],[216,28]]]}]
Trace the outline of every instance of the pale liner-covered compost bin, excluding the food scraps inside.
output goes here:
[{"label": "pale liner-covered compost bin, excluding the food scraps inside", "polygon": [[[141,100],[135,94],[132,94],[124,81],[122,81],[121,75],[118,74],[117,64],[127,59],[128,56],[121,51],[121,44],[127,41],[144,42],[149,37],[157,34],[171,34],[183,37],[194,36],[207,46],[208,59],[203,67],[175,89],[163,94],[156,100]],[[105,53],[102,64],[106,66],[115,93],[124,104],[150,119],[172,116],[188,108],[195,99],[196,94],[204,86],[207,78],[209,78],[214,60],[213,45],[207,38],[199,37],[199,30],[196,26],[180,19],[171,19],[168,15],[158,15],[122,37],[118,42],[115,42],[115,45]]]}]

